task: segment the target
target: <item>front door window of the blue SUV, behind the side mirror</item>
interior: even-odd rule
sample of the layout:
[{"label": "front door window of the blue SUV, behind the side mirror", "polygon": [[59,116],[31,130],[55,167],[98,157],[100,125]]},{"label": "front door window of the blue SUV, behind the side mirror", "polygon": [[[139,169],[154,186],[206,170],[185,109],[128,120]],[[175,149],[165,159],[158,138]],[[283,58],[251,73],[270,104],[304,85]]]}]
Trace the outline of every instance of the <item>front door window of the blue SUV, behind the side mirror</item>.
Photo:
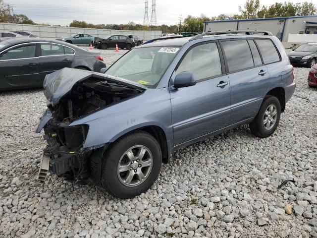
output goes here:
[{"label": "front door window of the blue SUV, behind the side mirror", "polygon": [[176,73],[193,72],[196,80],[222,74],[221,61],[215,42],[198,45],[189,50],[176,69]]}]

